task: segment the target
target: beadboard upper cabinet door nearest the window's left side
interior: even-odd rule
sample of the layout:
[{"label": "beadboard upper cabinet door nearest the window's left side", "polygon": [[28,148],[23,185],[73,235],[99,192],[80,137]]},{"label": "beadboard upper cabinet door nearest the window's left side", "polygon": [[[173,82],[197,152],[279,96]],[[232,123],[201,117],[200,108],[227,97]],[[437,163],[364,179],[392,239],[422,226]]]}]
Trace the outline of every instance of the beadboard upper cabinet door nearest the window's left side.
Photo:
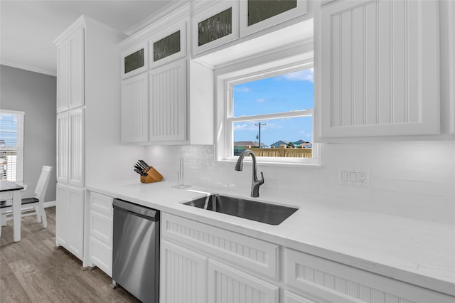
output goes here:
[{"label": "beadboard upper cabinet door nearest the window's left side", "polygon": [[186,60],[150,72],[150,142],[186,139]]}]

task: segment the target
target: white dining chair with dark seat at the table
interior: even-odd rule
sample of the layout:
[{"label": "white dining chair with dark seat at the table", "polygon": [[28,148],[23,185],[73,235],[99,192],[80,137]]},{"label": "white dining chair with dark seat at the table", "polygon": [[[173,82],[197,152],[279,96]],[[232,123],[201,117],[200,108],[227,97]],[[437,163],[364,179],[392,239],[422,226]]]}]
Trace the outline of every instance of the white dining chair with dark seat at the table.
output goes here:
[{"label": "white dining chair with dark seat at the table", "polygon": [[[42,221],[44,228],[48,227],[48,219],[44,210],[44,195],[48,188],[51,171],[52,166],[43,166],[33,198],[23,198],[21,206],[21,217],[36,215],[36,221],[38,223]],[[1,235],[1,225],[5,225],[8,220],[13,220],[13,201],[0,201],[0,220]]]}]

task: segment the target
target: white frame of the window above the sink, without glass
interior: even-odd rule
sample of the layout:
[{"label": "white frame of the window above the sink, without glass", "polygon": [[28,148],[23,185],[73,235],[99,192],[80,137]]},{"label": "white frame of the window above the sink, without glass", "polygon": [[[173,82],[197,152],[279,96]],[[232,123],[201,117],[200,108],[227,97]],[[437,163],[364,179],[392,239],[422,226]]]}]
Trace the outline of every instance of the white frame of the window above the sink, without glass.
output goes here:
[{"label": "white frame of the window above the sink, without glass", "polygon": [[[218,112],[217,112],[217,126],[215,129],[217,137],[215,142],[216,147],[216,160],[217,161],[237,161],[238,156],[233,156],[233,145],[234,145],[234,132],[233,124],[235,122],[249,122],[259,121],[260,119],[280,119],[286,117],[313,117],[312,127],[312,158],[284,158],[284,157],[269,157],[269,156],[258,156],[257,162],[260,164],[272,164],[272,165],[305,165],[305,166],[320,166],[321,165],[321,153],[319,144],[314,142],[315,128],[316,128],[316,115],[314,114],[314,107],[307,110],[296,110],[291,112],[281,112],[277,114],[264,114],[255,116],[241,116],[233,117],[233,85],[250,82],[253,80],[259,80],[264,78],[270,78],[276,75],[283,75],[285,73],[292,73],[298,70],[304,70],[314,68],[314,60],[304,60],[288,65],[272,66],[271,68],[264,68],[262,65],[258,65],[249,73],[245,73],[242,70],[237,70],[228,75],[218,76],[218,83],[216,85],[215,94],[218,96]],[[223,105],[220,104],[223,102]],[[315,100],[316,102],[316,100]],[[223,112],[220,109],[223,108]],[[221,121],[220,121],[221,120]],[[223,132],[224,129],[224,132]],[[249,157],[245,158],[245,161],[251,161]]]}]

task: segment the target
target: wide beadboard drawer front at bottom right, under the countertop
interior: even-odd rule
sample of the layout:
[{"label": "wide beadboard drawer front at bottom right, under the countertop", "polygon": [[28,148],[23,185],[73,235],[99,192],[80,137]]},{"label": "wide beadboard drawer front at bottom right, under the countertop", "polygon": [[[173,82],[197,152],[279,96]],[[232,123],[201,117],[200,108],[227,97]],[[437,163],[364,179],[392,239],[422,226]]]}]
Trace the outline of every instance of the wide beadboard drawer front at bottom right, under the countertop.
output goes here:
[{"label": "wide beadboard drawer front at bottom right, under the countertop", "polygon": [[296,291],[308,291],[329,302],[449,303],[455,299],[290,249],[284,250],[284,279]]}]

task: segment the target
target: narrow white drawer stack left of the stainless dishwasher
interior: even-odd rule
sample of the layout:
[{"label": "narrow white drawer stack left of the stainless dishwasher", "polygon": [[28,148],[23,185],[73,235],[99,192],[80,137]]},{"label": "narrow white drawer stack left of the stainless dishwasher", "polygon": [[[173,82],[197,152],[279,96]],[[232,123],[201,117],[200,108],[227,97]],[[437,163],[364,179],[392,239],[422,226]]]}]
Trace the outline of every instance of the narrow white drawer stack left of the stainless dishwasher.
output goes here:
[{"label": "narrow white drawer stack left of the stainless dishwasher", "polygon": [[90,264],[112,276],[112,197],[90,192]]}]

